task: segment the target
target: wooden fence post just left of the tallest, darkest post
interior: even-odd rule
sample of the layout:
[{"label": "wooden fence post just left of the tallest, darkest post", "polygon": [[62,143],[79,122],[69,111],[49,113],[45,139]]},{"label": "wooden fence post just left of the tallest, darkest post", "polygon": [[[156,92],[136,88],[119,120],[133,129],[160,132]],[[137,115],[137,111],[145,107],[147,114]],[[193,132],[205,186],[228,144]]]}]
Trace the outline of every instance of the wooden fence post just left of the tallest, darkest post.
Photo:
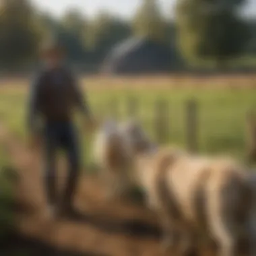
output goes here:
[{"label": "wooden fence post just left of the tallest, darkest post", "polygon": [[154,128],[156,132],[156,141],[164,144],[168,140],[169,133],[169,111],[168,102],[160,99],[155,104]]}]

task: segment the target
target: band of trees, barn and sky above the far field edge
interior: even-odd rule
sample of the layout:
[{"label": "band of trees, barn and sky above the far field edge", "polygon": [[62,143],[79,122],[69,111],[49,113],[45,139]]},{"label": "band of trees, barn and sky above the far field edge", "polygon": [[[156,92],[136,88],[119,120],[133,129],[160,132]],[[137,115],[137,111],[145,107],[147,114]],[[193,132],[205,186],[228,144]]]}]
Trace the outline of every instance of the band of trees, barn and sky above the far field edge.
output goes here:
[{"label": "band of trees, barn and sky above the far field edge", "polygon": [[1,71],[34,69],[45,36],[60,38],[84,73],[251,70],[255,14],[253,0],[3,0]]}]

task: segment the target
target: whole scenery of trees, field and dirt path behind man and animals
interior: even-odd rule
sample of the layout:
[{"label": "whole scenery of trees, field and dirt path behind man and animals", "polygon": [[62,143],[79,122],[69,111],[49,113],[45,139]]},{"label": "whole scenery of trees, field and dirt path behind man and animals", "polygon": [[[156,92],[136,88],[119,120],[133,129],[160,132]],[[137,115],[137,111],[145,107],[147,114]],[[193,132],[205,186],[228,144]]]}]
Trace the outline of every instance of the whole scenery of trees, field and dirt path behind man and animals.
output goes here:
[{"label": "whole scenery of trees, field and dirt path behind man and animals", "polygon": [[25,121],[45,38],[65,46],[97,120],[137,117],[161,145],[253,166],[256,1],[0,1],[0,255],[162,255],[151,212],[102,199],[88,132],[76,200],[84,218],[40,217],[40,161]]}]

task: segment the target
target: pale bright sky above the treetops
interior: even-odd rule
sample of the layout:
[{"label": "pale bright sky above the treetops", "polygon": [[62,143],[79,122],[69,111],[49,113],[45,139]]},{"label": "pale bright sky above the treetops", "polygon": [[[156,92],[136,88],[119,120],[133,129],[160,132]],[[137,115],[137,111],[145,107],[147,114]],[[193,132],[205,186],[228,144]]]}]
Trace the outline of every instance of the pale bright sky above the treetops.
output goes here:
[{"label": "pale bright sky above the treetops", "polygon": [[[78,7],[83,13],[94,16],[98,9],[106,9],[125,18],[131,17],[141,0],[32,0],[40,9],[60,16],[70,7]],[[171,15],[178,0],[158,0],[162,11]],[[247,0],[246,13],[256,17],[256,0]]]}]

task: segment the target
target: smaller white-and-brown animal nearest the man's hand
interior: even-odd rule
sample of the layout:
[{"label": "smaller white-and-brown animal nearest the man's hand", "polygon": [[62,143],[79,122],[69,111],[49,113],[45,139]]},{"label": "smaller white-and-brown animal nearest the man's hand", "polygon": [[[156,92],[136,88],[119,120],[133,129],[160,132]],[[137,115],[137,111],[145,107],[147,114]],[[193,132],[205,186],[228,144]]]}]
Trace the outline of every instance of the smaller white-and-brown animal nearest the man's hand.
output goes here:
[{"label": "smaller white-and-brown animal nearest the man's hand", "polygon": [[123,195],[129,187],[131,146],[117,123],[108,120],[102,125],[94,141],[94,160],[100,168],[100,176],[107,185],[107,198]]}]

